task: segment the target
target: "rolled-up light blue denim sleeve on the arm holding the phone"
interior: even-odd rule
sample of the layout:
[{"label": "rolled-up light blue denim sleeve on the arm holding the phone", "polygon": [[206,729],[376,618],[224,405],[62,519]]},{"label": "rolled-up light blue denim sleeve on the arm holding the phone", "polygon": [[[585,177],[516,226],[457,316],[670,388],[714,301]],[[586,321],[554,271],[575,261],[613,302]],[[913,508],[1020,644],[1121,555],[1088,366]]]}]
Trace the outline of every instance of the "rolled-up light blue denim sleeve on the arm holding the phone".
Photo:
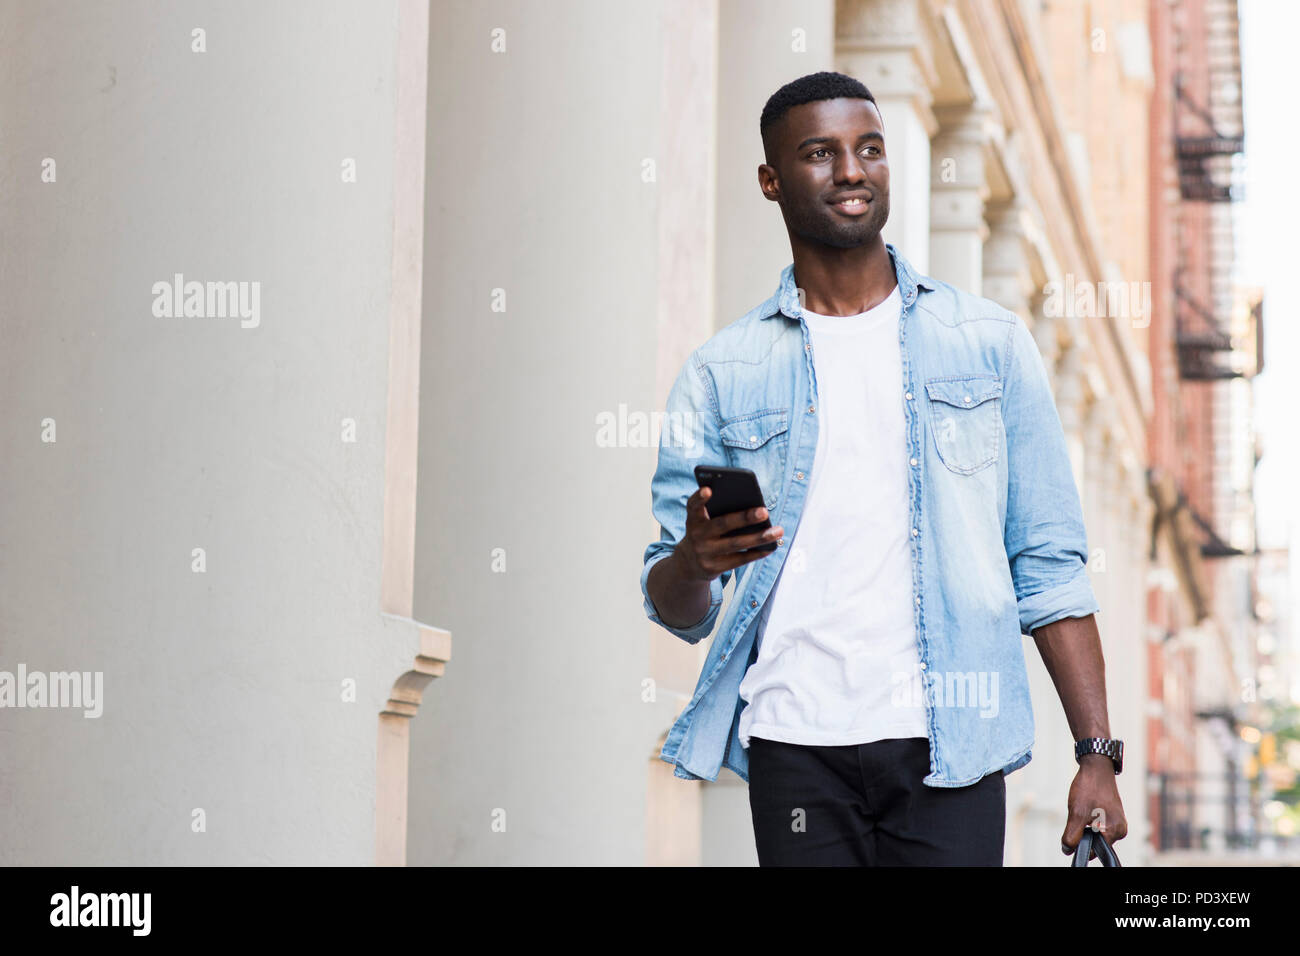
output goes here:
[{"label": "rolled-up light blue denim sleeve on the arm holding the phone", "polygon": [[710,401],[703,372],[694,354],[682,365],[668,392],[667,410],[659,432],[659,464],[650,481],[650,510],[659,522],[659,540],[644,555],[641,594],[645,613],[654,623],[681,637],[688,644],[707,637],[718,620],[723,589],[732,572],[724,571],[708,583],[708,611],[690,627],[671,627],[659,617],[650,600],[650,568],[670,557],[686,531],[686,499],[694,494],[696,466],[723,464],[727,458],[718,429],[714,403]]}]

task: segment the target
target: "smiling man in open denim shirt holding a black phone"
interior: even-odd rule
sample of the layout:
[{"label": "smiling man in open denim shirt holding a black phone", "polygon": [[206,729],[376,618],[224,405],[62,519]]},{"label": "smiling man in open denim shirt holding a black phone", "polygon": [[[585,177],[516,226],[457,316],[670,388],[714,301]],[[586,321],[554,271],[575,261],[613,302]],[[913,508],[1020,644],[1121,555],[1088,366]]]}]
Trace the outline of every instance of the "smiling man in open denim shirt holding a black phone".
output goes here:
[{"label": "smiling man in open denim shirt holding a black phone", "polygon": [[[794,261],[668,397],[690,428],[660,441],[645,611],[694,644],[741,571],[660,757],[749,782],[760,865],[1000,866],[1004,775],[1034,744],[1028,633],[1078,741],[1062,851],[1086,825],[1122,839],[1082,509],[1028,329],[881,239],[862,83],[802,77],[759,127]],[[696,463],[753,470],[767,506],[710,514]]]}]

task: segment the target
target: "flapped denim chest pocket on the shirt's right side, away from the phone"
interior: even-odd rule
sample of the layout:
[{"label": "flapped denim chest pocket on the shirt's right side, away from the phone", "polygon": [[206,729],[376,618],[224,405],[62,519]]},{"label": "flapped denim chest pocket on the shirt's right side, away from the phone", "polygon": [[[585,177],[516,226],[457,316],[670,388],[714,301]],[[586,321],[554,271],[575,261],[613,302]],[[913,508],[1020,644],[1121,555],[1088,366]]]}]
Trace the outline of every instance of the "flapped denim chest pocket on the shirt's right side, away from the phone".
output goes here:
[{"label": "flapped denim chest pocket on the shirt's right side, away from the phone", "polygon": [[1002,433],[998,378],[935,378],[926,382],[926,394],[935,451],[949,471],[974,475],[997,460]]}]

